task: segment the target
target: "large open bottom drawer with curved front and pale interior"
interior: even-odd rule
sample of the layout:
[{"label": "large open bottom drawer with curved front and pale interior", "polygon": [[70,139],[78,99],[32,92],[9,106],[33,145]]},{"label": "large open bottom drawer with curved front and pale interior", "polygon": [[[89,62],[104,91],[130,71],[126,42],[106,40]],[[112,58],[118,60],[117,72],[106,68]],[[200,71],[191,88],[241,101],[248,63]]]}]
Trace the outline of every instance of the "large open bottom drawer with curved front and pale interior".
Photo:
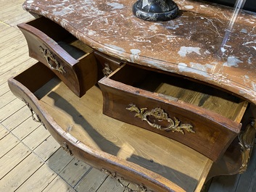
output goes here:
[{"label": "large open bottom drawer with curved front and pale interior", "polygon": [[[112,175],[133,182],[133,191],[200,191],[212,161],[163,135],[102,114],[101,90],[93,86],[78,98],[38,62],[9,79],[65,151]],[[124,178],[124,179],[123,179]]]}]

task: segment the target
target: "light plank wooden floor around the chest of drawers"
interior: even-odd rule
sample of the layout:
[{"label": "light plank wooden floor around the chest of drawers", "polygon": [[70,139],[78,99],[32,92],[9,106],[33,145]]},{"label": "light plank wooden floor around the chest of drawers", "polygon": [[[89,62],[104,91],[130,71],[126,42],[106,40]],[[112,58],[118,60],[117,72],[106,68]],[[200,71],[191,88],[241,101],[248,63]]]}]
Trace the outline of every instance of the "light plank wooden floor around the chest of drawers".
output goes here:
[{"label": "light plank wooden floor around the chest of drawers", "polygon": [[[8,78],[36,63],[16,27],[33,18],[22,9],[23,1],[0,0],[0,191],[125,191],[116,180],[60,149],[9,91]],[[256,191],[255,154],[243,175],[214,178],[205,191]]]}]

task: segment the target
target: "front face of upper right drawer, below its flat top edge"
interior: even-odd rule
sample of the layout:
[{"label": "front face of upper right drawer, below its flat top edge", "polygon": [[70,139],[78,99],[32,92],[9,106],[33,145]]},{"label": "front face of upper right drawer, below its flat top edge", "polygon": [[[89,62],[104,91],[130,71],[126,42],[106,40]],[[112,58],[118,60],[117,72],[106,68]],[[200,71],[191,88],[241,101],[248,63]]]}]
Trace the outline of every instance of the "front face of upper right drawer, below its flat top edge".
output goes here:
[{"label": "front face of upper right drawer, below its flat top edge", "polygon": [[[100,81],[103,113],[179,141],[213,161],[226,151],[238,133],[181,103],[160,101],[140,93],[112,88]],[[234,124],[239,128],[239,124]]]}]

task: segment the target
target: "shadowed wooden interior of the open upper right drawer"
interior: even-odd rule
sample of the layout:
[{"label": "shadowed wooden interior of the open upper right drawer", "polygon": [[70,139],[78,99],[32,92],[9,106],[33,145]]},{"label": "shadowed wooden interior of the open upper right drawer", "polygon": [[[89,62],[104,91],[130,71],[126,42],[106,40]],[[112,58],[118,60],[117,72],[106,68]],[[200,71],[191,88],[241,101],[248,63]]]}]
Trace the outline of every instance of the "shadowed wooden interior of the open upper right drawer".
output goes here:
[{"label": "shadowed wooden interior of the open upper right drawer", "polygon": [[202,107],[235,122],[241,121],[248,104],[247,101],[218,88],[128,64],[120,67],[120,70],[109,78],[125,85],[160,93],[173,100]]}]

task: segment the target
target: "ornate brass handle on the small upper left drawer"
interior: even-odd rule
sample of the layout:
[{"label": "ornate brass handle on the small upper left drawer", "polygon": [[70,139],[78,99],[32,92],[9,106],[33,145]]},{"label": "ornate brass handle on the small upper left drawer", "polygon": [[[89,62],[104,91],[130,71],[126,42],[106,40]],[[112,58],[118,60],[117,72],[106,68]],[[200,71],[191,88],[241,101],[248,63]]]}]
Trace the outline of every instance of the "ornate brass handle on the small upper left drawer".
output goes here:
[{"label": "ornate brass handle on the small upper left drawer", "polygon": [[[40,49],[41,53],[44,54],[44,58],[46,59],[46,62],[48,64],[48,66],[51,68],[51,70],[57,70],[61,74],[66,73],[64,67],[61,64],[59,64],[57,59],[55,59],[54,55],[51,54],[51,51],[49,51],[48,49],[44,49],[42,46],[39,46],[39,49]],[[51,64],[53,62],[55,63],[54,64],[55,66]]]}]

